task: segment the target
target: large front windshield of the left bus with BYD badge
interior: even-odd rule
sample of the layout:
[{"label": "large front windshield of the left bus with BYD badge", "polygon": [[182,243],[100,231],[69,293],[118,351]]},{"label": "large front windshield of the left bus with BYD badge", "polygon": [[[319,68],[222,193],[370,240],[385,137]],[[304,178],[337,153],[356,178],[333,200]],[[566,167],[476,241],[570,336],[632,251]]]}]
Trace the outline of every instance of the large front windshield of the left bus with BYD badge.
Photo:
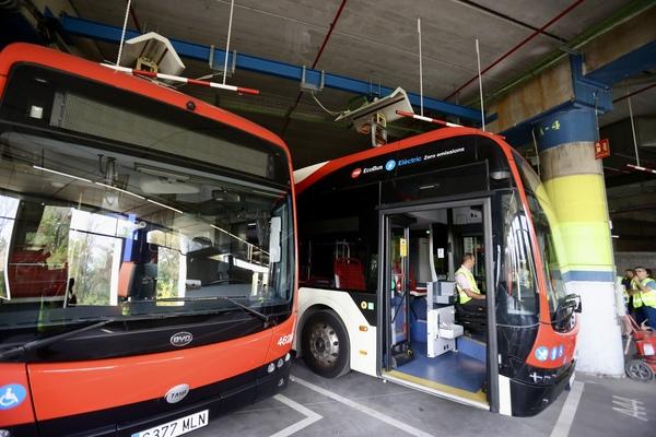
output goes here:
[{"label": "large front windshield of the left bus with BYD badge", "polygon": [[277,145],[19,66],[0,107],[0,146],[5,334],[238,306],[290,311],[291,179]]}]

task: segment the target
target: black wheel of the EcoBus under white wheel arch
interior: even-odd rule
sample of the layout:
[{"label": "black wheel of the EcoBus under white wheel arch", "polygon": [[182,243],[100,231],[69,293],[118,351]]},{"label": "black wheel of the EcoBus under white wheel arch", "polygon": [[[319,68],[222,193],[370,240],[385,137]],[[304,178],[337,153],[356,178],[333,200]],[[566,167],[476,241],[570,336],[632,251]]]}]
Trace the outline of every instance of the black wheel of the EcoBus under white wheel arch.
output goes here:
[{"label": "black wheel of the EcoBus under white wheel arch", "polygon": [[349,367],[349,336],[339,317],[329,310],[313,314],[301,334],[307,367],[325,378],[345,375]]}]

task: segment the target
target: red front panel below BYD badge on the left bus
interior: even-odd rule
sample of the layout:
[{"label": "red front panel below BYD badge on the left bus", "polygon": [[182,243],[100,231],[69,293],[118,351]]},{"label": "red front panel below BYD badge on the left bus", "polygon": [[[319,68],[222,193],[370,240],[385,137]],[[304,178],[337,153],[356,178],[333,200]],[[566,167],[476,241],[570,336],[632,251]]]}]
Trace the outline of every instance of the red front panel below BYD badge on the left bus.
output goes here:
[{"label": "red front panel below BYD badge on the left bus", "polygon": [[178,383],[195,388],[261,366],[271,331],[206,346],[74,363],[30,364],[39,421],[164,398]]}]

